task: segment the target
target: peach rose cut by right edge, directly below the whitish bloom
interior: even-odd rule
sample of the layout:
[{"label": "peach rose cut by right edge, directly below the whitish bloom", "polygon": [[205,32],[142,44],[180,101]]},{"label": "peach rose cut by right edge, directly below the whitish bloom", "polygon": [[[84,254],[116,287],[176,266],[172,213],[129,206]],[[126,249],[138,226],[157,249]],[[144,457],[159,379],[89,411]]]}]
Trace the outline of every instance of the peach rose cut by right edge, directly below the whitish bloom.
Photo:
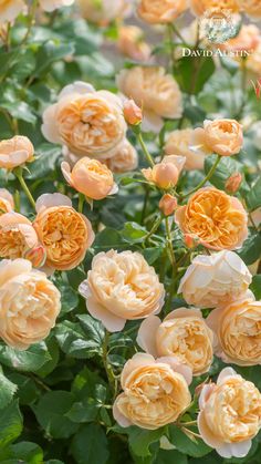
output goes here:
[{"label": "peach rose cut by right edge, directly below the whitish bloom", "polygon": [[217,334],[215,353],[238,365],[261,364],[261,302],[246,296],[207,318]]}]

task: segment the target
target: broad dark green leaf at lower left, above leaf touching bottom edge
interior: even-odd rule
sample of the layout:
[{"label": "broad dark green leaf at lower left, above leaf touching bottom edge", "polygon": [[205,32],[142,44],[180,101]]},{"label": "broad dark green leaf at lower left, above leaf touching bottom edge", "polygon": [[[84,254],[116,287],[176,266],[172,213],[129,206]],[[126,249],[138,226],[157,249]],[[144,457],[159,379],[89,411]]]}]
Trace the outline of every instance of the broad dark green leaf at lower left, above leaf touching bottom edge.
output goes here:
[{"label": "broad dark green leaf at lower left, above leaf touching bottom edge", "polygon": [[67,439],[76,432],[77,425],[66,417],[74,403],[74,395],[66,391],[51,391],[33,406],[40,425],[53,439]]}]

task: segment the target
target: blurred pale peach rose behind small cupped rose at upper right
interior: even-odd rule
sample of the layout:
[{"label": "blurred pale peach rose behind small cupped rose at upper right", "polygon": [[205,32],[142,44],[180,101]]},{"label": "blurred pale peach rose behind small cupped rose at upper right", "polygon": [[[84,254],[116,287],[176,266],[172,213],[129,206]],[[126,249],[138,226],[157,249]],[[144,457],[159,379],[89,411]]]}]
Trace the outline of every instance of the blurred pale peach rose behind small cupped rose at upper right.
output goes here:
[{"label": "blurred pale peach rose behind small cupped rose at upper right", "polygon": [[203,169],[205,158],[212,154],[207,146],[199,146],[197,151],[192,145],[192,128],[182,128],[171,132],[168,135],[165,153],[166,155],[180,155],[186,157],[185,169]]}]

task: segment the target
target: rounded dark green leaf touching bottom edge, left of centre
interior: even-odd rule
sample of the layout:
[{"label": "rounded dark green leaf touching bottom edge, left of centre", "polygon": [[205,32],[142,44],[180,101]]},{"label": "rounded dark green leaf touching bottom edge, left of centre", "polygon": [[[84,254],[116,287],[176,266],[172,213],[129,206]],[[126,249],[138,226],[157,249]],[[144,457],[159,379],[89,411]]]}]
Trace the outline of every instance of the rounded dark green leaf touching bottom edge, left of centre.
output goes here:
[{"label": "rounded dark green leaf touching bottom edge, left of centre", "polygon": [[71,452],[77,464],[106,464],[107,437],[98,424],[82,426],[74,435]]}]

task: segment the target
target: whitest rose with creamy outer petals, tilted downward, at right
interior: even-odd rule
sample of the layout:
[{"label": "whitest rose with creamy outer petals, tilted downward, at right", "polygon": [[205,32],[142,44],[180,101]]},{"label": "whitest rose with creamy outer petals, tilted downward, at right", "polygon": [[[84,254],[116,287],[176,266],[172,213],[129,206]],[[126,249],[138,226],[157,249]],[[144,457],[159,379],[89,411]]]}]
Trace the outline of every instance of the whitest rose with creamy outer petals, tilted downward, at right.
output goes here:
[{"label": "whitest rose with creamy outer petals, tilted downward, at right", "polygon": [[241,298],[251,280],[247,266],[233,251],[198,255],[180,280],[178,293],[189,305],[216,308]]}]

